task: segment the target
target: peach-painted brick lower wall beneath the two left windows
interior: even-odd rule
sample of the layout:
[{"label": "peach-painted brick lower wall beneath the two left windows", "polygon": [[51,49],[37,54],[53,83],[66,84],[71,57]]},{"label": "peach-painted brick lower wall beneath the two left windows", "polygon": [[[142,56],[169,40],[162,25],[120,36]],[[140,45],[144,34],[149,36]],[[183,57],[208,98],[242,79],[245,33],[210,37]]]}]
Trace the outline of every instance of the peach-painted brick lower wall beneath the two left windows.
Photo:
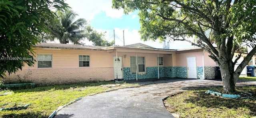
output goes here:
[{"label": "peach-painted brick lower wall beneath the two left windows", "polygon": [[[20,77],[20,79],[18,78]],[[72,84],[80,82],[114,80],[114,68],[65,68],[22,70],[16,74],[6,74],[4,83],[28,81],[36,85]]]}]

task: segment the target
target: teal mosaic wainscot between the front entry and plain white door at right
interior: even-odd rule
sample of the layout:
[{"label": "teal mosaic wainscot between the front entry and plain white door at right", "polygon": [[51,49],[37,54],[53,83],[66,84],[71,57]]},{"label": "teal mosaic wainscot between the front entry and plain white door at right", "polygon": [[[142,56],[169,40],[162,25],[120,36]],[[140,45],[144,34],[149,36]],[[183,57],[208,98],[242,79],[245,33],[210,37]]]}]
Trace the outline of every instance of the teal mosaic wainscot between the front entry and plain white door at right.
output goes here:
[{"label": "teal mosaic wainscot between the front entry and plain white door at right", "polygon": [[[158,67],[146,67],[146,72],[138,73],[138,79],[158,78]],[[124,80],[136,80],[136,73],[131,73],[129,67],[123,68]],[[159,67],[160,78],[187,78],[186,67]]]}]

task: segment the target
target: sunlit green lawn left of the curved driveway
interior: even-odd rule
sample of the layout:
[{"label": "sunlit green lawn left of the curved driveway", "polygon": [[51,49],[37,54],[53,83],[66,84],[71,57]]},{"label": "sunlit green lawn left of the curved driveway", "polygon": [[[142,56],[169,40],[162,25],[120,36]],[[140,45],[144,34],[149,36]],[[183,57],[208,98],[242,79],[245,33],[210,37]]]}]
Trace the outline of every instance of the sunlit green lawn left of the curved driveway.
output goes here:
[{"label": "sunlit green lawn left of the curved driveway", "polygon": [[[63,106],[77,98],[88,96],[93,93],[101,93],[117,87],[109,88],[107,84],[115,84],[115,82],[96,82],[72,85],[58,86],[41,86],[24,90],[2,90],[0,93],[11,92],[12,94],[0,96],[0,104],[9,103],[15,105],[17,103],[31,104],[25,110],[0,111],[0,118],[48,118],[52,111],[57,110],[59,106]],[[118,88],[125,86],[134,86],[138,84],[122,83]],[[78,86],[75,90],[70,87]],[[86,86],[86,90],[78,91],[81,87]],[[82,88],[84,89],[84,88]],[[6,106],[4,106],[6,107]]]}]

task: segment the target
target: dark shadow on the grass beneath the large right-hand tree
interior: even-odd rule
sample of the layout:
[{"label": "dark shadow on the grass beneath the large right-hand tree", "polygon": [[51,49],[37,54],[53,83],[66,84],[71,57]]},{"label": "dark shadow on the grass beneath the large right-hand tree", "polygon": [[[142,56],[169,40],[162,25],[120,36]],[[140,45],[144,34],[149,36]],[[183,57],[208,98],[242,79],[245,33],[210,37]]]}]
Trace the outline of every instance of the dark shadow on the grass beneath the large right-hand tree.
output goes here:
[{"label": "dark shadow on the grass beneath the large right-hand tree", "polygon": [[194,92],[193,96],[185,99],[185,102],[193,103],[196,106],[206,107],[206,108],[229,108],[229,109],[242,109],[248,108],[250,110],[250,115],[256,116],[256,92],[252,92],[253,99],[243,99],[243,98],[222,98],[220,96],[212,96],[205,94],[204,92]]}]

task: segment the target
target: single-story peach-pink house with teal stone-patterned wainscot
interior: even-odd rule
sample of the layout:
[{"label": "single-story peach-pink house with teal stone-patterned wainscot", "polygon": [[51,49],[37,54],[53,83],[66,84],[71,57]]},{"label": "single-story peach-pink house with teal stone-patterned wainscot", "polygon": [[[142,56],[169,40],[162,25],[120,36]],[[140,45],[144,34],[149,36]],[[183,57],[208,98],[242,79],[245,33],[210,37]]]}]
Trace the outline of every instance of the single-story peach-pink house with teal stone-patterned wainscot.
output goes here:
[{"label": "single-story peach-pink house with teal stone-patterned wainscot", "polygon": [[34,47],[34,52],[34,66],[26,65],[16,74],[7,74],[5,82],[21,79],[52,85],[114,79],[214,79],[217,74],[216,63],[201,48],[167,50],[140,43],[111,47],[41,43]]}]

